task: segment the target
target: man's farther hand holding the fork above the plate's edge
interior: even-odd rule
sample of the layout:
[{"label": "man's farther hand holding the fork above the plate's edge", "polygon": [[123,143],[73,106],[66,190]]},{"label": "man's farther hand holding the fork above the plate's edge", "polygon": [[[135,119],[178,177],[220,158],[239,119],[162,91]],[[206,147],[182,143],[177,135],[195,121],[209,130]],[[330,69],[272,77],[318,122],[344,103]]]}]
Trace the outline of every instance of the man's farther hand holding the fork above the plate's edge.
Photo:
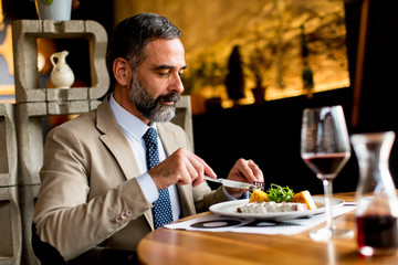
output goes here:
[{"label": "man's farther hand holding the fork above the plate's edge", "polygon": [[[263,173],[259,166],[256,166],[253,160],[244,160],[242,158],[235,162],[235,165],[228,174],[228,179],[248,182],[251,184],[253,183],[253,181],[264,181]],[[228,187],[226,187],[226,190],[228,193],[230,193],[237,199],[241,198],[242,194],[247,192],[247,190]]]}]

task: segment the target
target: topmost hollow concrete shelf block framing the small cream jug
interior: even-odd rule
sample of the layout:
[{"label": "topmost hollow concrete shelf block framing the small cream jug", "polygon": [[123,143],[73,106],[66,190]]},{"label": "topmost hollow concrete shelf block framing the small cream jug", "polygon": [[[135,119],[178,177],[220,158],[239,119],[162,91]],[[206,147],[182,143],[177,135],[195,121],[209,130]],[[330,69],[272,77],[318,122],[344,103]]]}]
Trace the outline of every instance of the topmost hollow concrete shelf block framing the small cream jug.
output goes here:
[{"label": "topmost hollow concrete shelf block framing the small cream jug", "polygon": [[[90,50],[91,87],[40,88],[38,38],[86,39]],[[96,100],[109,86],[106,67],[107,34],[91,20],[18,20],[12,24],[17,103]],[[73,70],[72,70],[73,71]]]}]

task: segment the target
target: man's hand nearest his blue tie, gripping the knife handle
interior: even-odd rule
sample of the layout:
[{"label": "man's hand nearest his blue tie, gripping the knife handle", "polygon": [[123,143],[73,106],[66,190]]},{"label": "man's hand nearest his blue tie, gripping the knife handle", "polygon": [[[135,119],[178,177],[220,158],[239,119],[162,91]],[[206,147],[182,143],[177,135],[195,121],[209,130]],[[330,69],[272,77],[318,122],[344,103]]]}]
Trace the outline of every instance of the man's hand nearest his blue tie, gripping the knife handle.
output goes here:
[{"label": "man's hand nearest his blue tie, gripping the knife handle", "polygon": [[214,171],[203,159],[180,148],[163,162],[148,171],[158,190],[166,189],[172,184],[190,184],[197,187],[203,182],[205,173],[217,178]]}]

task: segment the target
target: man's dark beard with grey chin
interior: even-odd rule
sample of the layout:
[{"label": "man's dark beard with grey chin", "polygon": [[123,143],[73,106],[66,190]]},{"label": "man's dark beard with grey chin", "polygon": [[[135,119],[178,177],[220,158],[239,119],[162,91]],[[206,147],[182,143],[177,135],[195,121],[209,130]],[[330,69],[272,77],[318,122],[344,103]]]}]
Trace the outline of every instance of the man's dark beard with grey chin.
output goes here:
[{"label": "man's dark beard with grey chin", "polygon": [[[169,93],[167,95],[160,95],[154,100],[139,83],[137,74],[135,73],[130,84],[129,99],[145,118],[153,123],[167,123],[176,116],[176,104],[179,95],[177,93]],[[174,104],[171,106],[161,104],[165,99],[172,100]]]}]

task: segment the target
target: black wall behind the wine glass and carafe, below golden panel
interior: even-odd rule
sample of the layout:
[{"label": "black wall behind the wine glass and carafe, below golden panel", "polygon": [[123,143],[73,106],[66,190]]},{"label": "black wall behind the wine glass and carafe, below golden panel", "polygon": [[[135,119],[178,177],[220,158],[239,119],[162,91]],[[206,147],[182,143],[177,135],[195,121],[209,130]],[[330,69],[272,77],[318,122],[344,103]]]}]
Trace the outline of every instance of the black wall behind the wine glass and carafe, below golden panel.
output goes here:
[{"label": "black wall behind the wine glass and carafe, below golden panel", "polygon": [[[362,1],[346,1],[346,28],[352,87],[266,102],[261,106],[217,109],[193,117],[195,148],[219,174],[226,177],[239,158],[253,159],[264,172],[265,184],[289,186],[323,193],[321,180],[300,157],[302,112],[305,107],[342,105],[349,134],[398,128],[398,2],[370,1],[365,72],[360,95],[359,123],[352,126],[354,74],[357,57]],[[398,153],[395,142],[390,171],[398,182]],[[334,191],[355,191],[358,182],[355,152],[334,181]]]}]

